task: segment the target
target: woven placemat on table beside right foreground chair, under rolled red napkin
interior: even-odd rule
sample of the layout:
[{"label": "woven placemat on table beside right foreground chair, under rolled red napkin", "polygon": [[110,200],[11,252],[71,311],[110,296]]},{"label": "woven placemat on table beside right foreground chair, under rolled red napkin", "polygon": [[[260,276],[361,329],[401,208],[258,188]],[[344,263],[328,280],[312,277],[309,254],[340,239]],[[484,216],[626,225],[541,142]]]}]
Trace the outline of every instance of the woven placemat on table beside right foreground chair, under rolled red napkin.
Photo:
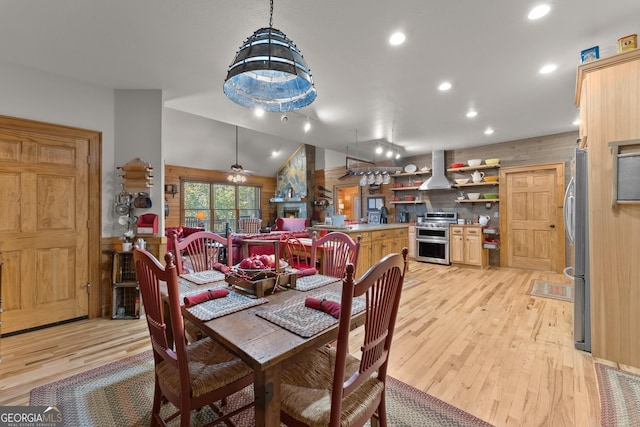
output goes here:
[{"label": "woven placemat on table beside right foreground chair, under rolled red napkin", "polygon": [[[309,297],[324,298],[331,301],[341,300],[341,294],[335,291],[314,292],[309,295]],[[303,338],[309,338],[338,323],[338,319],[330,314],[305,307],[305,299],[306,298],[299,298],[291,303],[275,305],[269,307],[269,309],[259,310],[256,312],[256,315]],[[360,313],[364,308],[364,296],[353,299],[352,314]]]}]

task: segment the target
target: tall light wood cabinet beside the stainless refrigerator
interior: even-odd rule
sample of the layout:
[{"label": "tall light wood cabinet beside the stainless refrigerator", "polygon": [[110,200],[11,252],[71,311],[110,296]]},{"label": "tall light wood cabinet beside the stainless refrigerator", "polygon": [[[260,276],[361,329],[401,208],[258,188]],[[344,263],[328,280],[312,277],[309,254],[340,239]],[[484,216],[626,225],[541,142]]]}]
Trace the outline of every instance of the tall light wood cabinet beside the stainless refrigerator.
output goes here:
[{"label": "tall light wood cabinet beside the stainless refrigerator", "polygon": [[640,138],[640,49],[578,67],[576,105],[587,148],[591,351],[640,367],[640,204],[612,207],[610,142]]}]

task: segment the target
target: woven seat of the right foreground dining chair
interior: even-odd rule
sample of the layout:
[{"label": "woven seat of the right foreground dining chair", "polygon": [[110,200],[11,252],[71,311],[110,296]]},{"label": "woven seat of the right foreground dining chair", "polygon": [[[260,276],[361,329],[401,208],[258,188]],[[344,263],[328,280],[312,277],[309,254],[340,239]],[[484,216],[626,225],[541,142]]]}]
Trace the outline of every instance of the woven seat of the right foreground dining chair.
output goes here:
[{"label": "woven seat of the right foreground dining chair", "polygon": [[[309,426],[329,425],[335,356],[335,347],[321,347],[282,372],[283,412]],[[347,356],[345,380],[359,365],[360,360]],[[380,399],[383,390],[383,382],[374,376],[349,394],[342,402],[341,425],[353,425],[353,420]]]}]

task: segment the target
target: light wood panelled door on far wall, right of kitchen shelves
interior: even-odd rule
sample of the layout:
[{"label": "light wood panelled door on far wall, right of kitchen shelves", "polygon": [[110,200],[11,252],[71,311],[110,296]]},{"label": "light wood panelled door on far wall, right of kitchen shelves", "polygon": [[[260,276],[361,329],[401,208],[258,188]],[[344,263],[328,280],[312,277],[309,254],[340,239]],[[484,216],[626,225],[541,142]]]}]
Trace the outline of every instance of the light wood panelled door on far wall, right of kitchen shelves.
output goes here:
[{"label": "light wood panelled door on far wall, right of kitchen shelves", "polygon": [[562,272],[564,164],[503,168],[500,183],[500,264]]}]

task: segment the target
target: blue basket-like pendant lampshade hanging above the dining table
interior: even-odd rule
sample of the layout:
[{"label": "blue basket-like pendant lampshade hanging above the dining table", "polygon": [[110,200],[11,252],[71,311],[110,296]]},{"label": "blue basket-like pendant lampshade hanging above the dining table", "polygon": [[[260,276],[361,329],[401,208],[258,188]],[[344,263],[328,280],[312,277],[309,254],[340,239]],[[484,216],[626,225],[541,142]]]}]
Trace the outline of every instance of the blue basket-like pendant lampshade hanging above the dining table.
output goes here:
[{"label": "blue basket-like pendant lampshade hanging above the dining table", "polygon": [[229,66],[224,93],[243,107],[270,112],[298,110],[316,99],[307,62],[273,27],[259,29],[240,47]]}]

